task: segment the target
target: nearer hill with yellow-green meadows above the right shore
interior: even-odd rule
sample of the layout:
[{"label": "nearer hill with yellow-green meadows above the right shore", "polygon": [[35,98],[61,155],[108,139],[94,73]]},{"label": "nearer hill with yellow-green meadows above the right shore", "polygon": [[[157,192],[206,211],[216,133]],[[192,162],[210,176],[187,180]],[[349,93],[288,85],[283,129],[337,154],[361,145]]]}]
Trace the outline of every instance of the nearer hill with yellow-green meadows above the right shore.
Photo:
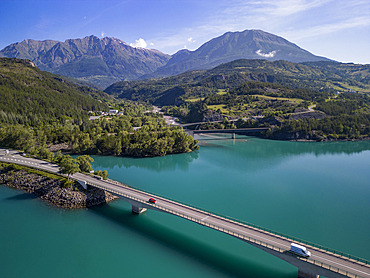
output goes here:
[{"label": "nearer hill with yellow-green meadows above the right shore", "polygon": [[[270,127],[263,137],[281,140],[370,138],[370,96],[330,93],[249,81],[194,102],[162,108],[200,129]],[[229,119],[238,119],[230,121]],[[214,120],[221,120],[211,123]]]}]

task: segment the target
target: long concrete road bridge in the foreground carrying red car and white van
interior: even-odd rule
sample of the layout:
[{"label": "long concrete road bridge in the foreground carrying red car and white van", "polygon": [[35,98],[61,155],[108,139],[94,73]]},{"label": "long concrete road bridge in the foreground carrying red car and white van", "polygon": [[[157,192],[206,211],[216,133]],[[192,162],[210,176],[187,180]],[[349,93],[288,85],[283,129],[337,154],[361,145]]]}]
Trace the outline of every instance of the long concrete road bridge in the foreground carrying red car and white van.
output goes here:
[{"label": "long concrete road bridge in the foreground carrying red car and white van", "polygon": [[[59,173],[58,165],[23,157],[16,151],[0,149],[0,161]],[[298,267],[300,277],[370,278],[370,262],[365,259],[182,204],[116,181],[102,180],[100,177],[82,173],[76,173],[72,178],[79,181],[85,188],[88,185],[94,186],[126,200],[132,205],[133,213],[140,214],[147,209],[165,212],[241,239]],[[149,198],[155,198],[156,203],[149,203]],[[311,252],[311,256],[302,258],[290,253],[289,249],[292,242],[306,246]]]}]

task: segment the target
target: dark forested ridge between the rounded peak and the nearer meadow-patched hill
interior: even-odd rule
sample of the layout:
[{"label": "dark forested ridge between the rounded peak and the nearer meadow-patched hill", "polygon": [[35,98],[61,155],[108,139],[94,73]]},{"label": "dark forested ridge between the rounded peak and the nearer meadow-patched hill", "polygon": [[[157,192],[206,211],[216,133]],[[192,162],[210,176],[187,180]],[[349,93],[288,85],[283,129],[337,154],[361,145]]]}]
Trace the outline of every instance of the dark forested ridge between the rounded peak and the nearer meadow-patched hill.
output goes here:
[{"label": "dark forested ridge between the rounded peak and the nearer meadow-patched hill", "polygon": [[121,81],[106,88],[105,92],[119,98],[163,106],[204,98],[219,90],[237,88],[248,81],[321,92],[370,93],[370,65],[241,59],[209,70],[188,71],[158,79]]}]

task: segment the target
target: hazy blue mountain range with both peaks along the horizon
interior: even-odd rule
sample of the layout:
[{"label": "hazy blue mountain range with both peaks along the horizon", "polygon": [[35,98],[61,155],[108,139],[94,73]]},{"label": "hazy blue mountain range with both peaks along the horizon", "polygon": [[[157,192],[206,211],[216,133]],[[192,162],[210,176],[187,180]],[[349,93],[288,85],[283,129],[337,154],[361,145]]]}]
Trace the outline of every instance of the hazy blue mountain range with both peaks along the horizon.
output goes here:
[{"label": "hazy blue mountain range with both peaks along the horizon", "polygon": [[41,70],[104,88],[117,81],[172,76],[238,59],[330,61],[261,30],[227,32],[194,51],[182,49],[172,56],[155,49],[132,47],[117,38],[94,35],[64,42],[26,39],[5,47],[0,56],[29,59]]}]

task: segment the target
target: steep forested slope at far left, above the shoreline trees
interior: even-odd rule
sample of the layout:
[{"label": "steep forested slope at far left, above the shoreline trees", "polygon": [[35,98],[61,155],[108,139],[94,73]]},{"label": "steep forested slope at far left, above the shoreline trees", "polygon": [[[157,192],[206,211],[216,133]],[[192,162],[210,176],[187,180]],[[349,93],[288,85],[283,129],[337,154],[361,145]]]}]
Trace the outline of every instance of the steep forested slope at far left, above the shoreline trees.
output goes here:
[{"label": "steep forested slope at far left, above the shoreline trees", "polygon": [[88,111],[107,110],[105,93],[77,86],[29,60],[0,58],[0,123],[79,122]]}]

